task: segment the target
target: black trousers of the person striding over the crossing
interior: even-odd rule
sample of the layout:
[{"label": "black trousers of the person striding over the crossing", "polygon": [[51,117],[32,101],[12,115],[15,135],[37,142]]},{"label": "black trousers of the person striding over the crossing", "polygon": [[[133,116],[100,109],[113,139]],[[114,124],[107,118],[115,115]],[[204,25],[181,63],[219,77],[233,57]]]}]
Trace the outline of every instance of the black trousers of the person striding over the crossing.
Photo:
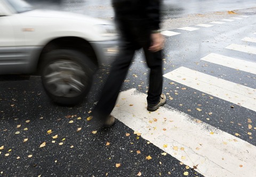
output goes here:
[{"label": "black trousers of the person striding over the crossing", "polygon": [[118,22],[121,30],[122,43],[119,54],[111,65],[110,74],[103,86],[103,90],[97,105],[93,109],[93,116],[104,121],[114,109],[119,91],[129,71],[134,53],[143,49],[149,73],[149,90],[147,102],[156,104],[159,102],[163,87],[162,51],[150,52],[148,50],[151,39],[150,31],[140,26],[139,21],[124,20]]}]

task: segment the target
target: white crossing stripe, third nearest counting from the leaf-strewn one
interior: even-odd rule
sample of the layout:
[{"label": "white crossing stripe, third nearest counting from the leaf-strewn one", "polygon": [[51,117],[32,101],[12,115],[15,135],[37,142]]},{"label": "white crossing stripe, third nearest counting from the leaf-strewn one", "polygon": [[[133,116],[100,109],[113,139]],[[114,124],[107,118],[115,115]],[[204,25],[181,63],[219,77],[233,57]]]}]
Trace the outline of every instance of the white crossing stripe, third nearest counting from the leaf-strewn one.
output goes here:
[{"label": "white crossing stripe, third nearest counting from the leaf-strewn one", "polygon": [[256,63],[250,61],[244,61],[236,58],[226,57],[224,55],[211,53],[201,60],[215,63],[217,65],[222,65],[229,68],[239,69],[247,73],[252,73],[256,75]]}]

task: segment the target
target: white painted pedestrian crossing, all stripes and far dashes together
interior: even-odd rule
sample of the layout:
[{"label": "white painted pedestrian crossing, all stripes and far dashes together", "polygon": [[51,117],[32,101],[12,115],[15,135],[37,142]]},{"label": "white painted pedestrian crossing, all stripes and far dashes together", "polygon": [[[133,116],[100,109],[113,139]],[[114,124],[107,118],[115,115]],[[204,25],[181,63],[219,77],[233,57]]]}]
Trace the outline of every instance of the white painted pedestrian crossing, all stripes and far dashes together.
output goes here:
[{"label": "white painted pedestrian crossing, all stripes and far dashes together", "polygon": [[[242,17],[249,16],[233,19],[239,20]],[[211,27],[207,25],[209,24],[196,26]],[[188,27],[179,29],[193,31],[193,28]],[[162,34],[180,34],[172,32],[163,31]],[[244,37],[241,41],[255,43],[255,38]],[[249,44],[230,44],[225,50],[256,54],[256,47]],[[246,61],[218,53],[207,54],[200,60],[256,75],[256,61]],[[186,67],[172,70],[163,77],[256,112],[255,88]],[[195,170],[202,175],[255,176],[255,146],[207,123],[193,122],[192,117],[169,106],[148,112],[146,97],[146,94],[136,89],[122,92],[112,112],[113,116],[182,163],[190,167],[198,165]]]}]

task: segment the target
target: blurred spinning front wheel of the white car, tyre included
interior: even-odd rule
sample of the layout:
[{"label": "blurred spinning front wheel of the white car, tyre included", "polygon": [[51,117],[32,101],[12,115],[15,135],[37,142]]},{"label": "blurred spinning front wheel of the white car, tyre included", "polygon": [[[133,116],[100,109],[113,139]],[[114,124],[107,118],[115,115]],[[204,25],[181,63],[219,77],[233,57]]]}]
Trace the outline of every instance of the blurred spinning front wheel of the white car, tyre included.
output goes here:
[{"label": "blurred spinning front wheel of the white car, tyre included", "polygon": [[41,67],[44,89],[55,103],[73,106],[90,91],[95,66],[82,52],[51,51],[44,55]]}]

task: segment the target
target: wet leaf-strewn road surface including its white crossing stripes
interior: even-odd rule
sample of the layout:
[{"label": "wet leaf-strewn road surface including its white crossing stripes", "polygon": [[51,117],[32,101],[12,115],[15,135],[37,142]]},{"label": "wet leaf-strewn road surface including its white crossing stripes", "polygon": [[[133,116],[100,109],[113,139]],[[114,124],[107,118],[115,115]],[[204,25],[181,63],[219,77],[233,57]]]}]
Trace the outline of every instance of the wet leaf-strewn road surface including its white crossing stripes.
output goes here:
[{"label": "wet leaf-strewn road surface including its white crossing stripes", "polygon": [[146,111],[138,51],[108,130],[87,119],[108,67],[75,107],[53,104],[39,77],[1,76],[0,175],[255,176],[255,12],[165,20],[166,105]]}]

